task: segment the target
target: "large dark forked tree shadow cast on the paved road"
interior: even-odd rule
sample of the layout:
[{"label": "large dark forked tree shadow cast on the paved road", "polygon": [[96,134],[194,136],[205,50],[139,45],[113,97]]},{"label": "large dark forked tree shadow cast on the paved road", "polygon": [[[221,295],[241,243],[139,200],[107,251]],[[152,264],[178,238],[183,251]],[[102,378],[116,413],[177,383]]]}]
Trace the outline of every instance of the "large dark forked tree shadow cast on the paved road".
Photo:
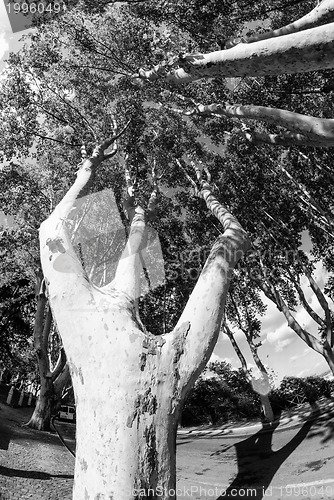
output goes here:
[{"label": "large dark forked tree shadow cast on the paved road", "polygon": [[249,438],[219,451],[217,454],[235,447],[238,474],[225,494],[216,500],[226,500],[227,498],[261,500],[280,466],[306,438],[319,415],[320,410],[314,407],[311,415],[297,434],[280,450],[273,451],[272,449],[273,433],[279,425],[278,420],[270,427],[265,425],[263,429]]}]

